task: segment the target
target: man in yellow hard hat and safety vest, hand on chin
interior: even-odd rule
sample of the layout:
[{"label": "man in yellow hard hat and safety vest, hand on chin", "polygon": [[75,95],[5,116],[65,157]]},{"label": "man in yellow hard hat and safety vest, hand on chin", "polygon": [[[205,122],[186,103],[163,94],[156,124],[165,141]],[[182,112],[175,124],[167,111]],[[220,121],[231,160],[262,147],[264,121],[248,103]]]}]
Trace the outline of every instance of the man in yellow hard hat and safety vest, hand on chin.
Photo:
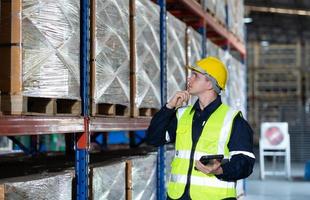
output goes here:
[{"label": "man in yellow hard hat and safety vest, hand on chin", "polygon": [[[160,146],[175,142],[168,199],[236,199],[236,181],[252,173],[253,131],[241,112],[221,102],[227,69],[215,57],[190,66],[186,91],[177,92],[153,117],[147,142]],[[194,105],[183,106],[190,95]],[[205,155],[224,155],[204,165]]]}]

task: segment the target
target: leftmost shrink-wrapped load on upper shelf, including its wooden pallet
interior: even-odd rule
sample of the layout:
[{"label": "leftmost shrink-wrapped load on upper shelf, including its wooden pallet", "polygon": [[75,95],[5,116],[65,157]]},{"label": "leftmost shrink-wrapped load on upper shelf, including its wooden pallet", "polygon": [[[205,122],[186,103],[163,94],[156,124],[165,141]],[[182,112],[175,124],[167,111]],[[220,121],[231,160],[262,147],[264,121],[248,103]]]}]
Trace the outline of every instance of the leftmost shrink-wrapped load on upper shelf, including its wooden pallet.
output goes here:
[{"label": "leftmost shrink-wrapped load on upper shelf, including its wooden pallet", "polygon": [[79,3],[2,1],[1,15],[2,113],[80,115]]}]

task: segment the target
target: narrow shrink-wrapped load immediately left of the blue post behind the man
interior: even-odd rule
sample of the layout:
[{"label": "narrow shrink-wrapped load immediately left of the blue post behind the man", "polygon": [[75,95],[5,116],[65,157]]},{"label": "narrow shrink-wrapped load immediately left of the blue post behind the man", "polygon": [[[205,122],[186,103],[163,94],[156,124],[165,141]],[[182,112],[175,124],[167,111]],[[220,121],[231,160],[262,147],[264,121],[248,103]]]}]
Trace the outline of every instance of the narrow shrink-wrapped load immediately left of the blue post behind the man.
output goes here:
[{"label": "narrow shrink-wrapped load immediately left of the blue post behind the man", "polygon": [[136,0],[136,58],[138,108],[160,108],[160,8]]}]

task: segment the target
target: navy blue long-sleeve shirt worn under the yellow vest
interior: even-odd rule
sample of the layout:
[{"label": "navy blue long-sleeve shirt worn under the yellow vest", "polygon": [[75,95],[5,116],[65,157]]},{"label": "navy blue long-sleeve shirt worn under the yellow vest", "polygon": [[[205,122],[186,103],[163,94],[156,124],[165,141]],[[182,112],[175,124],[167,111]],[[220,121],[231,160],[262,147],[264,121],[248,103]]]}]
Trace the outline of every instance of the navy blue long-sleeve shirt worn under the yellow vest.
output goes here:
[{"label": "navy blue long-sleeve shirt worn under the yellow vest", "polygon": [[[200,109],[197,101],[193,109],[195,109],[193,124],[192,124],[192,142],[195,148],[198,139],[202,133],[203,121],[208,120],[211,114],[222,104],[221,97],[206,106],[203,110]],[[174,143],[177,130],[176,110],[168,109],[166,106],[156,113],[150,123],[147,131],[147,143],[154,146],[161,146],[167,143]],[[169,134],[169,141],[166,139],[166,132]],[[253,131],[247,121],[238,114],[233,122],[231,136],[228,142],[228,149],[232,157],[229,162],[223,164],[223,174],[216,175],[218,179],[225,181],[236,181],[248,177],[252,173],[255,162],[253,154]],[[194,151],[194,149],[192,149]],[[191,160],[190,167],[194,164]],[[189,175],[188,175],[189,176]],[[185,192],[180,199],[189,198],[190,179],[188,177]]]}]

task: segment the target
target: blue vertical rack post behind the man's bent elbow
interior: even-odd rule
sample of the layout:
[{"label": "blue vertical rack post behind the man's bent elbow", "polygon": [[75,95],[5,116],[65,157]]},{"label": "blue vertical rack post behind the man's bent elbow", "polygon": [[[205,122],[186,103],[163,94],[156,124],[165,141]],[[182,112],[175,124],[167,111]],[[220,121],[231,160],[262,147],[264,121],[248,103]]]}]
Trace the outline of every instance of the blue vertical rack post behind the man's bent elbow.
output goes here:
[{"label": "blue vertical rack post behind the man's bent elbow", "polygon": [[[160,6],[160,93],[161,105],[167,101],[167,11],[166,0],[158,0]],[[166,199],[165,146],[158,148],[157,154],[157,199]]]}]

